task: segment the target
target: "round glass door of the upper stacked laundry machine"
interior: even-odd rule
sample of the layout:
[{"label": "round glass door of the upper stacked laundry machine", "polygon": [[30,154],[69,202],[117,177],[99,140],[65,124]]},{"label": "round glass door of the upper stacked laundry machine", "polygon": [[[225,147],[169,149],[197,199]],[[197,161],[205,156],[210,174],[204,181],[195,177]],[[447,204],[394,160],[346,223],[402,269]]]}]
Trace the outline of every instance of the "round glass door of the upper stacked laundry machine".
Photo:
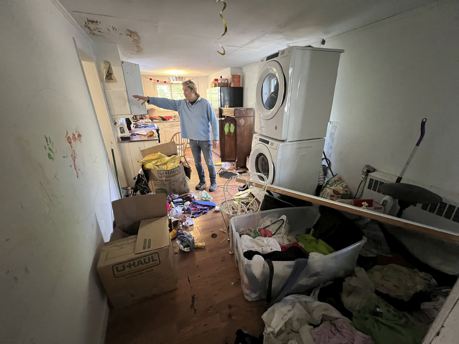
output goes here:
[{"label": "round glass door of the upper stacked laundry machine", "polygon": [[275,116],[284,101],[285,78],[279,62],[269,61],[258,74],[255,88],[255,103],[261,118],[269,120]]}]

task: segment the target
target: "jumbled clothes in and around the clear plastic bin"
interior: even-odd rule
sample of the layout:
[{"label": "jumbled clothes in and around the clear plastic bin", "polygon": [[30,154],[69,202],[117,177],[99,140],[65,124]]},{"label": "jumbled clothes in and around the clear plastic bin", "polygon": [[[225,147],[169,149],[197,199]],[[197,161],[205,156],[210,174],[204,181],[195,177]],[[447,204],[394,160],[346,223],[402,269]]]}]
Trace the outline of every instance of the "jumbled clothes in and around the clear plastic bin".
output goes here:
[{"label": "jumbled clothes in and around the clear plastic bin", "polygon": [[[310,234],[291,236],[281,229],[285,236],[280,237],[279,231],[275,233],[281,227],[279,219],[267,221],[274,227],[271,236],[262,236],[263,228],[243,230],[240,242],[246,259],[265,265],[269,261],[295,261],[277,296],[270,294],[268,285],[263,343],[421,344],[456,278],[417,262],[407,251],[397,250],[398,244],[393,238],[386,241],[384,227],[374,220],[359,217],[352,221],[325,207],[320,214]],[[289,292],[292,278],[298,275],[295,269],[305,269],[313,255],[329,255],[362,236],[366,242],[360,250],[360,266],[354,268],[352,276],[330,278],[313,290],[304,290],[304,294]],[[394,248],[397,253],[391,252]],[[257,268],[261,271],[252,264],[255,275]]]}]

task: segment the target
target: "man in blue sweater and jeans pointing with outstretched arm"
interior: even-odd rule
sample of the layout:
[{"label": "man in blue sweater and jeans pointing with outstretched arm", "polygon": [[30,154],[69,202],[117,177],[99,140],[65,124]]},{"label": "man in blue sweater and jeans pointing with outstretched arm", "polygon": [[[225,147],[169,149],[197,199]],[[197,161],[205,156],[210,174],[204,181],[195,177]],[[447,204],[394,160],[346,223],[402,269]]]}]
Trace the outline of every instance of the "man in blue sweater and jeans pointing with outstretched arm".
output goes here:
[{"label": "man in blue sweater and jeans pointing with outstretched arm", "polygon": [[[182,83],[183,100],[168,98],[144,97],[133,95],[137,100],[142,100],[142,105],[156,105],[162,109],[179,112],[180,131],[185,139],[190,139],[191,153],[195,159],[196,171],[199,175],[199,184],[196,190],[201,190],[206,185],[206,176],[201,162],[201,152],[204,154],[207,168],[209,170],[210,187],[209,191],[217,189],[215,166],[212,160],[212,148],[218,147],[218,121],[212,106],[207,99],[201,98],[197,93],[196,85],[192,81]],[[212,126],[213,140],[211,141],[210,130]]]}]

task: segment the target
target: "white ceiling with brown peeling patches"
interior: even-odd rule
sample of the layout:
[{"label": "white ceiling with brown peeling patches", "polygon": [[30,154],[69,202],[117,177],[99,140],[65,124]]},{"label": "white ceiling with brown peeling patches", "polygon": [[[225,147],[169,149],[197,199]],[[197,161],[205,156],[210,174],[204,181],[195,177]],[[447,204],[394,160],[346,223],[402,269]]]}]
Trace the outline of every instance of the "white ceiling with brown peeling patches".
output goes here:
[{"label": "white ceiling with brown peeling patches", "polygon": [[94,42],[118,44],[143,73],[179,69],[195,76],[244,67],[287,44],[327,39],[432,2],[228,0],[221,56],[213,43],[221,34],[221,4],[214,0],[61,0]]}]

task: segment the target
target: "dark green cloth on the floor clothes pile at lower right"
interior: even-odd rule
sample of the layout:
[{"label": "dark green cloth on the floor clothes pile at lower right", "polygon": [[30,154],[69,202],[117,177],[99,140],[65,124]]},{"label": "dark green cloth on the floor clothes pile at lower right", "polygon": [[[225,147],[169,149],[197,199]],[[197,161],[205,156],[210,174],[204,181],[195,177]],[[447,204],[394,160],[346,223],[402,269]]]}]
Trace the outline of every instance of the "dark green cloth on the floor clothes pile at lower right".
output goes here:
[{"label": "dark green cloth on the floor clothes pile at lower right", "polygon": [[408,316],[376,294],[365,298],[353,311],[353,325],[368,334],[375,344],[420,344],[424,335]]}]

